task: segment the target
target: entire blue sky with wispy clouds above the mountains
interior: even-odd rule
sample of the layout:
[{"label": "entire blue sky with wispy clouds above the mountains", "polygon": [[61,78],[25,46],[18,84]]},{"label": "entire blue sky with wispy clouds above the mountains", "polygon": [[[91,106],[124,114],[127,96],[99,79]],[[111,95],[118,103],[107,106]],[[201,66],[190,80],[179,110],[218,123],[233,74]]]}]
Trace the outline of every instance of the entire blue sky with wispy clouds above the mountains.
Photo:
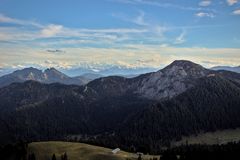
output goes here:
[{"label": "entire blue sky with wispy clouds above the mountains", "polygon": [[240,65],[240,0],[0,0],[0,69]]}]

